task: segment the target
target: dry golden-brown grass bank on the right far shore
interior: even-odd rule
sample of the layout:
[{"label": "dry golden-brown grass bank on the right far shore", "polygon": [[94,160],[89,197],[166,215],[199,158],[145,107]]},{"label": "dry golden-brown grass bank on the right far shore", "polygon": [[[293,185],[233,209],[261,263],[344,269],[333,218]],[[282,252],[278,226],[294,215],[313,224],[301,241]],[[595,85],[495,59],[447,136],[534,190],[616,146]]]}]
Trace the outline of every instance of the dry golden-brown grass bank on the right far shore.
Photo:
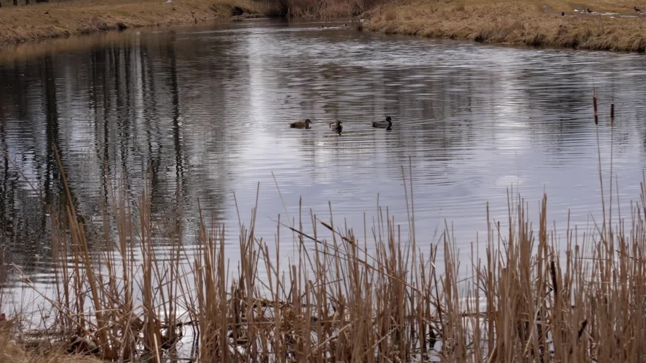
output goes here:
[{"label": "dry golden-brown grass bank on the right far shore", "polygon": [[[640,6],[641,5],[641,6]],[[516,0],[405,0],[366,14],[365,28],[386,33],[450,37],[535,47],[644,52],[646,17],[633,6],[646,3],[595,0],[589,3]],[[581,14],[578,8],[597,12]],[[561,16],[565,12],[565,16]],[[601,15],[600,12],[616,12]],[[614,17],[612,17],[614,16]]]}]

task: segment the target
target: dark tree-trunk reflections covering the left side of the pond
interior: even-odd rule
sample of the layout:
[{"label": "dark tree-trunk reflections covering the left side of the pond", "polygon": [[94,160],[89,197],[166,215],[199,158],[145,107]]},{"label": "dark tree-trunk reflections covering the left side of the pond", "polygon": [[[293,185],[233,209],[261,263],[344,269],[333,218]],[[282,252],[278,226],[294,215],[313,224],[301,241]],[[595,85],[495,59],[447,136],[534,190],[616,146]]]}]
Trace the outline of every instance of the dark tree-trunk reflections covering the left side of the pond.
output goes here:
[{"label": "dark tree-trunk reflections covering the left side of the pond", "polygon": [[[207,116],[194,114],[190,107],[185,110],[183,105],[193,99],[184,98],[182,89],[210,95],[211,87],[225,80],[194,83],[190,74],[182,76],[183,72],[208,73],[213,65],[183,64],[178,56],[181,48],[196,47],[169,34],[97,45],[74,57],[48,54],[23,66],[0,67],[0,80],[8,85],[0,88],[0,152],[24,165],[25,175],[47,204],[59,209],[65,196],[56,146],[74,203],[90,225],[100,220],[97,205],[109,203],[110,185],[117,185],[121,178],[130,186],[134,202],[148,175],[156,213],[187,205],[193,211],[185,213],[192,214],[197,196],[205,209],[221,209],[225,178],[199,179],[190,185],[187,160],[219,158],[228,131],[224,125],[205,120]],[[191,125],[188,133],[187,123]],[[187,142],[204,134],[218,136],[218,140],[209,140],[209,150],[187,147]],[[25,157],[31,155],[34,162],[25,164]],[[213,165],[223,176],[226,160],[219,158]],[[42,247],[49,243],[43,234],[49,221],[41,201],[28,192],[17,170],[6,160],[1,167],[0,230],[5,231],[12,262],[34,272],[30,269],[34,255],[41,255],[41,262],[48,260],[47,249]]]}]

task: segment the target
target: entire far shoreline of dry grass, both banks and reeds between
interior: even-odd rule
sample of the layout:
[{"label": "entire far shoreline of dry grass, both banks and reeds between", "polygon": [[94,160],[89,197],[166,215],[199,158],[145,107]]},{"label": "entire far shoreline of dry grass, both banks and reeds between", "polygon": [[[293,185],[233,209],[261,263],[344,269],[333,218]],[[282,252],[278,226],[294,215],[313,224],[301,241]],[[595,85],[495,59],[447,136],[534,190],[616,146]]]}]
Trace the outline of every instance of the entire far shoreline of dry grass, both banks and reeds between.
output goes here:
[{"label": "entire far shoreline of dry grass, both banks and reeds between", "polygon": [[[0,8],[0,45],[234,17],[332,19],[362,14],[367,21],[359,26],[375,32],[532,47],[645,52],[646,13],[637,13],[632,6],[627,0],[74,0],[17,7],[7,6],[5,1]],[[587,13],[587,8],[594,12]]]}]

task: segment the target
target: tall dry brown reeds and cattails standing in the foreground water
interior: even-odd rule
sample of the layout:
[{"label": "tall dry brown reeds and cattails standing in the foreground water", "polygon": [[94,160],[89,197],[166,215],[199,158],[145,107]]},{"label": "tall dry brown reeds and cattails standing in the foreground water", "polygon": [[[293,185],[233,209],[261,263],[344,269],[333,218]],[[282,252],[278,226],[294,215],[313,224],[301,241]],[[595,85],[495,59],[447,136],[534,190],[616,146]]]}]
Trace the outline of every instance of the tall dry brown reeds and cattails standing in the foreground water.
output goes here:
[{"label": "tall dry brown reeds and cattails standing in the foreground water", "polygon": [[276,240],[297,242],[287,265],[280,244],[255,234],[256,208],[238,225],[232,266],[224,225],[200,213],[185,245],[180,216],[154,219],[147,188],[133,209],[127,185],[110,193],[95,253],[70,198],[51,214],[56,294],[43,298],[56,316],[41,333],[116,362],[643,362],[646,182],[621,211],[599,152],[592,231],[568,222],[557,234],[547,195],[533,210],[509,193],[505,220],[484,211],[488,232],[467,263],[448,224],[439,240],[416,236],[411,169],[404,225],[380,209],[360,238],[331,211],[278,217]]}]

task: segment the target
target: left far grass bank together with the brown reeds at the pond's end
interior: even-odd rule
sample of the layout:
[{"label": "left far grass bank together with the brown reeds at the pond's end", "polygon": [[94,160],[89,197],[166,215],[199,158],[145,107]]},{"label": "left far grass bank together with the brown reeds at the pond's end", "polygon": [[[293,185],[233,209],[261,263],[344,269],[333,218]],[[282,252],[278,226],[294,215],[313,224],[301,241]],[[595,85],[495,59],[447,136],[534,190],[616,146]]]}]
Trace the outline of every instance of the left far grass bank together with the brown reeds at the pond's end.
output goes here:
[{"label": "left far grass bank together with the brown reeds at the pond's end", "polygon": [[[1,0],[0,0],[1,1]],[[0,8],[0,44],[258,16],[355,16],[380,0],[72,0]]]}]

